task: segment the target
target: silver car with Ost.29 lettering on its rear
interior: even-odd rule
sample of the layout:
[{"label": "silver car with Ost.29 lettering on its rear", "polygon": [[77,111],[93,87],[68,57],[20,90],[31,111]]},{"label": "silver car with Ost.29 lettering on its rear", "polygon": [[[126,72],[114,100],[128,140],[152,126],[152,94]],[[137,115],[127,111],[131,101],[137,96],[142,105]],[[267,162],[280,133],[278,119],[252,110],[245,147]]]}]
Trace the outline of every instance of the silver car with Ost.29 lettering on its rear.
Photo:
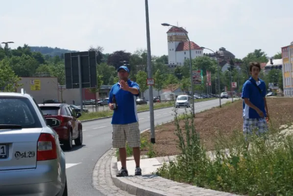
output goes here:
[{"label": "silver car with Ost.29 lettering on its rear", "polygon": [[28,94],[0,93],[0,196],[67,196],[57,119]]}]

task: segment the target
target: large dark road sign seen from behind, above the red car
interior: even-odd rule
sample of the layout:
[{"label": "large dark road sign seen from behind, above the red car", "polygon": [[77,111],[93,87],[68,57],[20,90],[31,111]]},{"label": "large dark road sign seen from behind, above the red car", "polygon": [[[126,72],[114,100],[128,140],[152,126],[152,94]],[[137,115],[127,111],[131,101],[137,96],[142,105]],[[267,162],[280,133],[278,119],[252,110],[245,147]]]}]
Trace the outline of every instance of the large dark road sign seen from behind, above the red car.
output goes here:
[{"label": "large dark road sign seen from behind, above the red car", "polygon": [[[78,55],[80,56],[80,71],[78,69]],[[82,88],[97,87],[97,59],[96,51],[65,53],[65,81],[67,89],[79,88],[79,75]]]}]

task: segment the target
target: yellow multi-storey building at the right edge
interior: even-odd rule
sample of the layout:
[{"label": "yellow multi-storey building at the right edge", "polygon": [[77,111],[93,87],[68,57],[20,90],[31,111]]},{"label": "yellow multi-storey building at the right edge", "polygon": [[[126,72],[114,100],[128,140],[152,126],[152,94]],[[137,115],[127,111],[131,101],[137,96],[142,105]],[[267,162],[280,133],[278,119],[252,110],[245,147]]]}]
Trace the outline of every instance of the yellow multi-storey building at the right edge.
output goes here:
[{"label": "yellow multi-storey building at the right edge", "polygon": [[283,59],[283,87],[284,96],[293,96],[293,42],[289,46],[282,47]]}]

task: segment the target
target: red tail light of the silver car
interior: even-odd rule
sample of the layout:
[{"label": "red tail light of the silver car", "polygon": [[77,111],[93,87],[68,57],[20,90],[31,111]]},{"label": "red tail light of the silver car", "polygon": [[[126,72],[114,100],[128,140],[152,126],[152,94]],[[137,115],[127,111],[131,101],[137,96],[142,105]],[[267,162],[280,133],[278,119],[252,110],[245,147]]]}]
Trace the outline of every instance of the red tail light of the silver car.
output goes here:
[{"label": "red tail light of the silver car", "polygon": [[41,133],[38,140],[37,161],[57,159],[55,137],[50,133]]}]

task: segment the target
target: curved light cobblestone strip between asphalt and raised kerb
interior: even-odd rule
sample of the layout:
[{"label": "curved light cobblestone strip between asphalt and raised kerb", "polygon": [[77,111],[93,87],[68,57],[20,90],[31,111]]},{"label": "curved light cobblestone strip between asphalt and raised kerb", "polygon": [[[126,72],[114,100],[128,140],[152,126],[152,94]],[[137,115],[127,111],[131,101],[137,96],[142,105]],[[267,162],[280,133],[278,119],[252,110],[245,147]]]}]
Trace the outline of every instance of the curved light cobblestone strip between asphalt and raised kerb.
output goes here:
[{"label": "curved light cobblestone strip between asphalt and raised kerb", "polygon": [[105,196],[133,196],[115,186],[112,180],[110,165],[114,154],[115,150],[110,149],[98,160],[93,171],[92,185]]}]

